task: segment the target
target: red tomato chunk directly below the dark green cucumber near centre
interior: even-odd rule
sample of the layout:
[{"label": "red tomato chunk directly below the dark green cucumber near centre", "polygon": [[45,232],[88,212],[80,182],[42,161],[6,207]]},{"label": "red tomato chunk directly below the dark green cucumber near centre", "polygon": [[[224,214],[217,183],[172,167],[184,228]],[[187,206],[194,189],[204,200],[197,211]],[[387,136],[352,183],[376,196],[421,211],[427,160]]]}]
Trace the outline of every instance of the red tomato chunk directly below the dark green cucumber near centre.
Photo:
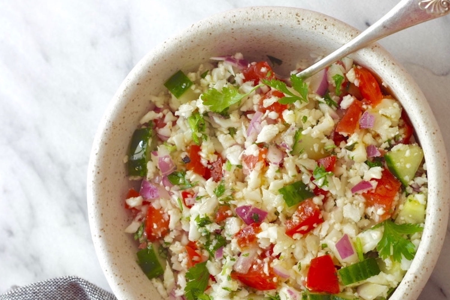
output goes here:
[{"label": "red tomato chunk directly below the dark green cucumber near centre", "polygon": [[293,237],[295,233],[305,234],[324,222],[319,206],[312,199],[300,202],[291,219],[284,223],[286,234]]}]

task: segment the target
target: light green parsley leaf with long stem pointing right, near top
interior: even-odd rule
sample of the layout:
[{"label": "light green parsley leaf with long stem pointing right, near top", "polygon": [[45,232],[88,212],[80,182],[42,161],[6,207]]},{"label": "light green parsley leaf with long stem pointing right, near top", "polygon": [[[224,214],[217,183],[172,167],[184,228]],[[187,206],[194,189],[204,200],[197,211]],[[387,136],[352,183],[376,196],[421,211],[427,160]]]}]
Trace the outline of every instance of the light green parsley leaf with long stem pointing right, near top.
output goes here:
[{"label": "light green parsley leaf with long stem pointing right, near top", "polygon": [[233,86],[224,86],[222,91],[211,88],[202,94],[203,104],[209,106],[211,111],[221,113],[234,103],[241,101],[259,87],[260,85],[255,86],[247,94],[239,94],[238,90]]}]

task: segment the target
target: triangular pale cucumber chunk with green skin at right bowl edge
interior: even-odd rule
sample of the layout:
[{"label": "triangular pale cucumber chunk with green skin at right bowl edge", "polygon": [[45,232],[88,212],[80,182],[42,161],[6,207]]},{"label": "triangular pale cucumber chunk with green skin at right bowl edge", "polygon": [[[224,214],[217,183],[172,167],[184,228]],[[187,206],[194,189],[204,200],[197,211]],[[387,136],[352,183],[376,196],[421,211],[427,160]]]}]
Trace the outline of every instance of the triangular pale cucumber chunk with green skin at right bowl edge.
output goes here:
[{"label": "triangular pale cucumber chunk with green skin at right bowl edge", "polygon": [[406,187],[422,163],[423,150],[416,144],[398,144],[384,158],[392,174]]}]

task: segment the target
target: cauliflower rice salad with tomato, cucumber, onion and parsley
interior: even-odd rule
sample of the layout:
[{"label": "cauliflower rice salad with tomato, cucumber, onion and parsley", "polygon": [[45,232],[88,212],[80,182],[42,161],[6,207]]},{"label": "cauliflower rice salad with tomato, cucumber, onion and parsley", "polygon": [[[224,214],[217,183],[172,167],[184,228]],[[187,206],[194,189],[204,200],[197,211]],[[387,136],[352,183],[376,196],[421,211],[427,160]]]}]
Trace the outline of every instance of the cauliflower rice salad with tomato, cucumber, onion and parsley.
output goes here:
[{"label": "cauliflower rice salad with tomato, cucumber, onion and parsley", "polygon": [[304,80],[268,58],[149,97],[124,160],[136,260],[168,299],[386,299],[425,218],[410,121],[350,58]]}]

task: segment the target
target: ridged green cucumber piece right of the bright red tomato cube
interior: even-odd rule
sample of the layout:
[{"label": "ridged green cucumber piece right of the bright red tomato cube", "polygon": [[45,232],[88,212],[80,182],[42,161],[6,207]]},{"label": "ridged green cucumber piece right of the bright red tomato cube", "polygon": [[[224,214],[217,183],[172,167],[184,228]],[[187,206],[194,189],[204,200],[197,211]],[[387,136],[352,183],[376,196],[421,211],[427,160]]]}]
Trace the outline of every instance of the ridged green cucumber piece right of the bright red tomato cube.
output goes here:
[{"label": "ridged green cucumber piece right of the bright red tomato cube", "polygon": [[361,282],[369,277],[378,275],[378,273],[380,273],[380,267],[377,260],[373,257],[338,270],[338,275],[345,286]]}]

